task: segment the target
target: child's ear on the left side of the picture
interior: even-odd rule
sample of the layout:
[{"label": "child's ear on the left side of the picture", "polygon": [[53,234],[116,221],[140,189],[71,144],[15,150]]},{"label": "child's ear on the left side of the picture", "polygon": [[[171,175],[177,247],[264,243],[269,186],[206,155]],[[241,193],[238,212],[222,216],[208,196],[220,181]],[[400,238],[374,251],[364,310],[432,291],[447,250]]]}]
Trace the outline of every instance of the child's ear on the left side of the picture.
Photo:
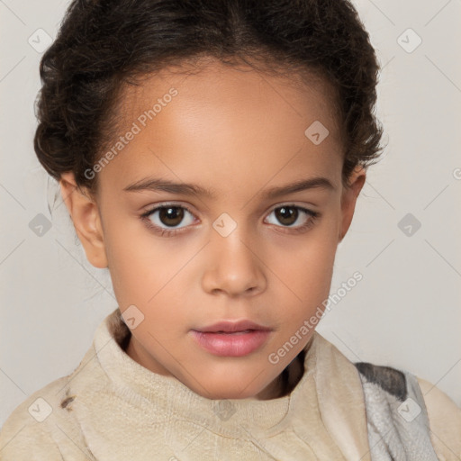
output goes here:
[{"label": "child's ear on the left side of the picture", "polygon": [[103,226],[95,199],[77,186],[72,172],[63,173],[59,185],[78,239],[85,249],[86,258],[94,267],[107,267]]}]

